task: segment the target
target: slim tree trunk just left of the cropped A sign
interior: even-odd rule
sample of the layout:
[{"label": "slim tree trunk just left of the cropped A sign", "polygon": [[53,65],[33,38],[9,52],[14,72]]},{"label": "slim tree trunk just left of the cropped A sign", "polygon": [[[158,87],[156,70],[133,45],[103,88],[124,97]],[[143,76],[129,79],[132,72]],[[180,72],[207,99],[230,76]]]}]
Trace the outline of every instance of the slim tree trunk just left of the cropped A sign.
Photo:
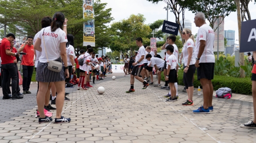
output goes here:
[{"label": "slim tree trunk just left of the cropped A sign", "polygon": [[[241,38],[241,25],[242,25],[242,19],[241,19],[241,11],[240,11],[240,0],[235,0],[236,2],[236,12],[237,12],[237,22],[238,22],[238,35],[239,35],[239,50],[240,50],[240,38]],[[240,53],[240,66],[244,65],[244,54]],[[240,77],[244,78],[244,70],[240,68]]]}]

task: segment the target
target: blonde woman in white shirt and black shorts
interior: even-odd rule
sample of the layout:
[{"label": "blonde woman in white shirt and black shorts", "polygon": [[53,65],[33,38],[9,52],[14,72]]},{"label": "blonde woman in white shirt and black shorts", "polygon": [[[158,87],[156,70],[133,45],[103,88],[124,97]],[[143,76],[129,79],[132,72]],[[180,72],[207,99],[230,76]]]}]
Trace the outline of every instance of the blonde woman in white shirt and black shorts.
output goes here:
[{"label": "blonde woman in white shirt and black shorts", "polygon": [[192,106],[193,104],[193,92],[194,92],[194,85],[193,85],[193,76],[195,73],[195,41],[194,35],[192,34],[191,30],[188,28],[184,28],[182,31],[182,39],[185,40],[185,44],[183,45],[182,54],[180,57],[180,64],[182,64],[182,57],[183,62],[185,65],[184,73],[183,73],[183,82],[186,87],[186,91],[188,94],[188,99],[185,103],[182,103],[184,106]]}]

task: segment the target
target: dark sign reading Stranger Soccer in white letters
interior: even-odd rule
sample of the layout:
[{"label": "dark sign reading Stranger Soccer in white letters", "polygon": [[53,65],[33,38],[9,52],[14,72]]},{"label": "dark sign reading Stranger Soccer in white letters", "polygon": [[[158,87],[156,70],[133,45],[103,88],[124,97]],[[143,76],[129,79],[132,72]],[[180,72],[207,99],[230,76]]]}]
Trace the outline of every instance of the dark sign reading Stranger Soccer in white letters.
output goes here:
[{"label": "dark sign reading Stranger Soccer in white letters", "polygon": [[179,32],[179,27],[179,24],[163,20],[162,32],[177,36]]}]

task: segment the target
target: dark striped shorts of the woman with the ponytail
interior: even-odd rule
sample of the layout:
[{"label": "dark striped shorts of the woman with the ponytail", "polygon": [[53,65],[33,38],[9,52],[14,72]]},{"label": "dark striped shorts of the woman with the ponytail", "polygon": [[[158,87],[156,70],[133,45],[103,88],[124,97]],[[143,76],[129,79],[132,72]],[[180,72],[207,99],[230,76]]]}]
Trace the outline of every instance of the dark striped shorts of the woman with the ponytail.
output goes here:
[{"label": "dark striped shorts of the woman with the ponytail", "polygon": [[[54,60],[58,62],[62,62],[61,57]],[[47,68],[48,63],[44,62],[38,62],[37,68],[36,68],[36,76],[35,80],[39,82],[57,82],[57,81],[64,81],[65,80],[65,74],[64,70],[61,70],[60,72],[54,72],[52,70],[49,70]]]}]

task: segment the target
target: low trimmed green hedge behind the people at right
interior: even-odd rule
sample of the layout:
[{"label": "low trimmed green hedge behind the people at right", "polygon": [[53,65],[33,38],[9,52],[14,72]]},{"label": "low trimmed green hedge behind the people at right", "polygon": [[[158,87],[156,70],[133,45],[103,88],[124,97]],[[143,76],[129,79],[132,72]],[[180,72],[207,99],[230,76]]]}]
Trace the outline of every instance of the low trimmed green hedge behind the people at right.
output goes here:
[{"label": "low trimmed green hedge behind the people at right", "polygon": [[[161,80],[164,81],[163,72],[161,75]],[[218,90],[221,87],[229,87],[232,89],[232,93],[252,95],[250,78],[235,78],[230,76],[214,75],[212,84],[214,90]],[[184,85],[182,70],[179,70],[178,72],[178,85]],[[199,86],[202,88],[200,81],[197,80],[197,76],[195,75],[194,87],[198,88]]]}]

